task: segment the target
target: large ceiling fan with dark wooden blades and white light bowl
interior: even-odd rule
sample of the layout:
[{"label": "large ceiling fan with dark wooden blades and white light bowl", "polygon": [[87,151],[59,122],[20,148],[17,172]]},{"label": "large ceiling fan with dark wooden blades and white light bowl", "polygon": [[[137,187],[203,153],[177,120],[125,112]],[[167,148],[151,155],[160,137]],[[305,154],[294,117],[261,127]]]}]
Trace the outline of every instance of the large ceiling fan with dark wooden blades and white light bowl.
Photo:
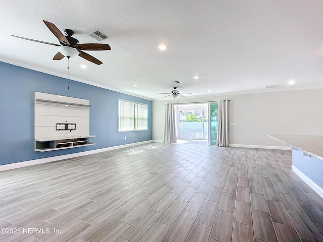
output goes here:
[{"label": "large ceiling fan with dark wooden blades and white light bowl", "polygon": [[82,58],[86,59],[87,61],[90,61],[96,65],[101,65],[102,62],[100,62],[97,58],[94,58],[92,55],[85,53],[82,50],[110,50],[111,49],[109,44],[98,44],[98,43],[80,44],[77,39],[72,37],[74,34],[73,30],[65,29],[64,32],[66,35],[64,35],[54,24],[47,22],[45,20],[43,20],[43,22],[48,27],[48,29],[58,38],[58,40],[60,41],[60,44],[54,44],[54,43],[44,42],[44,41],[35,40],[35,39],[28,39],[28,38],[24,38],[16,35],[11,35],[11,36],[21,38],[21,39],[31,40],[38,43],[59,46],[58,47],[59,52],[52,58],[55,61],[59,61],[60,59],[63,59],[64,56],[70,58],[70,57],[79,55]]}]

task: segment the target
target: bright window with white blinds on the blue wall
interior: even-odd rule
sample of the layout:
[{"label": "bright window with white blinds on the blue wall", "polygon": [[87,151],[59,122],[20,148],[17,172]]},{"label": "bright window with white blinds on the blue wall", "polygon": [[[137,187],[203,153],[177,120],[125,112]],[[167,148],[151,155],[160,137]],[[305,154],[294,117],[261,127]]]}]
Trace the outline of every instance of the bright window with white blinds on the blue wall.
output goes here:
[{"label": "bright window with white blinds on the blue wall", "polygon": [[118,131],[147,130],[148,105],[119,99]]}]

